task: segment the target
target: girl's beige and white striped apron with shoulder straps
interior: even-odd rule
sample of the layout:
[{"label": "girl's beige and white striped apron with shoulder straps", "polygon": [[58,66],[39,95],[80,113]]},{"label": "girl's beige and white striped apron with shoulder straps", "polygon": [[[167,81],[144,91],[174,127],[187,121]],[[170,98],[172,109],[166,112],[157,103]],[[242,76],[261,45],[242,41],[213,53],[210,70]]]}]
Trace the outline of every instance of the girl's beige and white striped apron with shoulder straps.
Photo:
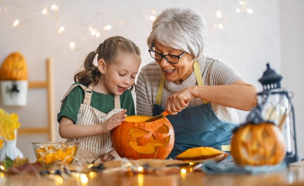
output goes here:
[{"label": "girl's beige and white striped apron with shoulder straps", "polygon": [[[123,109],[120,109],[119,95],[114,97],[114,109],[107,114],[99,111],[90,106],[92,92],[92,85],[88,88],[81,84],[73,85],[69,88],[68,92],[64,95],[63,99],[66,98],[68,93],[75,88],[80,86],[84,90],[84,103],[80,105],[79,113],[77,116],[76,124],[80,125],[93,125],[104,123],[113,114],[116,114]],[[102,104],[102,103],[101,103]],[[101,156],[109,153],[113,147],[110,139],[110,132],[106,134],[98,134],[94,136],[87,136],[82,138],[67,139],[69,142],[79,142],[78,150],[75,155],[73,164],[90,164],[101,162]]]}]

